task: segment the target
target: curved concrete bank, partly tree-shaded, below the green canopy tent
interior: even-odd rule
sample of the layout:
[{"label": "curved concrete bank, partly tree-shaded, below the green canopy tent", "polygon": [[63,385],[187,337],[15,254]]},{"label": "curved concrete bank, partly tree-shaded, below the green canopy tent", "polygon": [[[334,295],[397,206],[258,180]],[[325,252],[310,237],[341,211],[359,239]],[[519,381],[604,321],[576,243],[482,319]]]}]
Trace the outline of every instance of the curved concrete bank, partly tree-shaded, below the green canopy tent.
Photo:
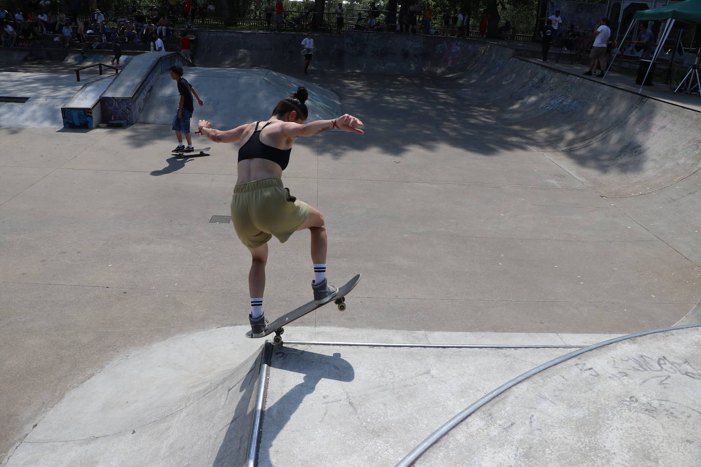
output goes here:
[{"label": "curved concrete bank, partly tree-shaded, below the green canopy tent", "polygon": [[488,44],[458,93],[604,197],[651,193],[701,168],[701,113]]}]

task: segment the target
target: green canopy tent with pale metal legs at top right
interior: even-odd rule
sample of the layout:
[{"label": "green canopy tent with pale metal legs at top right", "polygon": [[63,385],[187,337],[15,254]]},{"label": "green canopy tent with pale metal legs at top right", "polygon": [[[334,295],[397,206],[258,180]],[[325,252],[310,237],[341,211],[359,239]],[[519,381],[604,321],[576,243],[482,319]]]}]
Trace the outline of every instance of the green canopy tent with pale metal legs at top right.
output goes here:
[{"label": "green canopy tent with pale metal legs at top right", "polygon": [[[658,6],[657,8],[651,8],[650,10],[641,10],[635,13],[633,21],[630,23],[630,26],[628,27],[627,32],[625,33],[625,36],[623,36],[623,40],[621,41],[621,44],[625,43],[625,39],[627,38],[628,34],[632,31],[634,25],[639,20],[644,20],[644,21],[665,21],[665,26],[662,28],[662,33],[660,34],[660,40],[658,41],[658,45],[655,48],[655,53],[653,53],[653,58],[650,61],[650,66],[648,67],[648,71],[646,71],[645,78],[643,80],[643,83],[648,78],[648,75],[650,74],[650,70],[653,67],[653,64],[655,63],[655,60],[657,60],[658,56],[660,55],[660,51],[665,45],[665,41],[667,41],[667,37],[669,37],[669,33],[672,32],[672,27],[674,26],[674,22],[676,20],[680,20],[683,22],[690,22],[690,23],[701,23],[701,0],[686,0],[686,1],[680,1],[674,4],[668,4],[665,6]],[[615,55],[613,56],[613,60],[611,60],[611,64],[608,65],[608,68],[606,69],[606,73],[608,73],[608,70],[611,69],[611,65],[613,65],[613,62],[615,61],[615,57],[618,55],[620,52],[620,47],[616,50]],[[691,71],[691,70],[690,70]],[[604,75],[606,76],[606,75]],[[697,86],[699,85],[698,81],[698,72],[696,71],[696,78],[697,78]],[[686,81],[686,78],[685,80]],[[681,87],[681,84],[680,84]],[[643,85],[640,86],[640,90],[643,90]],[[679,90],[677,88],[676,90]],[[676,92],[676,90],[674,92]],[[699,88],[699,95],[701,95],[701,86]]]}]

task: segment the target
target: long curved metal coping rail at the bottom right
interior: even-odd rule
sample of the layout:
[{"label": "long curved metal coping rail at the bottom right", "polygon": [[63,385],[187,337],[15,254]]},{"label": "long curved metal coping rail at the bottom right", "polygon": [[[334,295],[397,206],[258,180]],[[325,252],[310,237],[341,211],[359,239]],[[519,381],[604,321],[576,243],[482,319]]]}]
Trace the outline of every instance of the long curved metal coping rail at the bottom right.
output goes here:
[{"label": "long curved metal coping rail at the bottom right", "polygon": [[451,418],[443,426],[438,428],[428,438],[423,440],[418,446],[416,446],[413,450],[411,450],[411,452],[409,452],[409,454],[404,456],[404,459],[399,461],[399,463],[397,463],[397,465],[395,467],[409,467],[409,466],[413,465],[414,462],[416,462],[416,460],[424,452],[428,451],[428,449],[431,446],[433,446],[438,440],[440,440],[440,438],[442,438],[449,431],[451,431],[453,428],[458,426],[458,424],[461,424],[466,418],[470,417],[470,415],[475,413],[480,407],[482,407],[486,403],[489,403],[489,401],[496,398],[496,396],[501,395],[501,393],[504,393],[508,389],[511,389],[513,386],[516,386],[520,382],[523,382],[525,379],[528,379],[529,377],[536,375],[536,373],[539,373],[543,370],[547,370],[548,368],[551,368],[554,365],[557,365],[559,363],[563,363],[564,361],[568,361],[569,359],[574,358],[576,356],[579,356],[581,354],[584,354],[585,352],[588,352],[590,350],[599,349],[601,347],[605,347],[608,344],[614,344],[615,342],[620,342],[622,340],[632,339],[633,337],[641,337],[644,335],[664,333],[664,332],[670,331],[670,330],[686,329],[686,328],[699,328],[699,327],[701,327],[701,324],[688,324],[686,326],[673,326],[671,328],[662,328],[662,329],[644,331],[642,333],[622,335],[619,337],[615,337],[613,339],[605,340],[604,342],[599,342],[598,344],[590,345],[590,346],[585,347],[583,349],[572,351],[569,354],[565,354],[565,355],[560,356],[558,358],[554,358],[553,360],[551,360],[547,363],[543,363],[543,365],[539,365],[536,368],[533,368],[533,370],[527,371],[524,374],[522,374],[518,377],[515,377],[510,382],[502,384],[497,389],[494,389],[494,391],[491,391],[490,393],[486,394],[485,396],[482,396],[482,398],[479,398],[475,403],[472,403],[471,405],[469,405],[467,408],[465,408],[465,410],[458,413],[455,417]]}]

